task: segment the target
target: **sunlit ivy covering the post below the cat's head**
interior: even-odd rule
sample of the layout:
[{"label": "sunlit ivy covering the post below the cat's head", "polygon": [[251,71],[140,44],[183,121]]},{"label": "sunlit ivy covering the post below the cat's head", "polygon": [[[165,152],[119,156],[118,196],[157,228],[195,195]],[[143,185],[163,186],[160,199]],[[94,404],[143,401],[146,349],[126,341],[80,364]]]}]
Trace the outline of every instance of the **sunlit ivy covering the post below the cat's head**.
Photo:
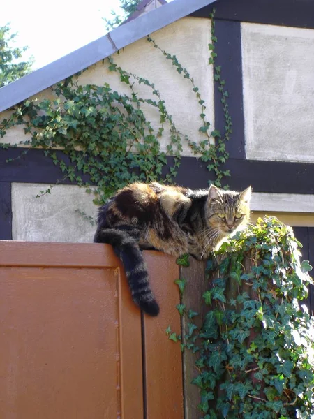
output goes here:
[{"label": "sunlit ivy covering the post below the cat's head", "polygon": [[189,318],[181,347],[196,354],[202,418],[313,418],[314,322],[304,304],[311,265],[300,263],[300,246],[289,226],[259,219],[209,260],[202,328],[197,313],[177,307]]}]

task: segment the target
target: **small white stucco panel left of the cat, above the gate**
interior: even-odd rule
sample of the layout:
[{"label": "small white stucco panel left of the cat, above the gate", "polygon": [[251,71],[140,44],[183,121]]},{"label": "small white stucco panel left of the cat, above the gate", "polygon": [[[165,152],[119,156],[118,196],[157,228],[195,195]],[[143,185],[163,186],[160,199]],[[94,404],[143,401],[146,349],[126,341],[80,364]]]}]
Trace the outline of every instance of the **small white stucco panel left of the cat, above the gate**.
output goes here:
[{"label": "small white stucco panel left of the cat, above the gate", "polygon": [[50,194],[36,198],[49,184],[13,183],[13,240],[29,242],[92,242],[95,226],[78,214],[84,212],[95,219],[94,196],[84,188],[57,185]]}]

